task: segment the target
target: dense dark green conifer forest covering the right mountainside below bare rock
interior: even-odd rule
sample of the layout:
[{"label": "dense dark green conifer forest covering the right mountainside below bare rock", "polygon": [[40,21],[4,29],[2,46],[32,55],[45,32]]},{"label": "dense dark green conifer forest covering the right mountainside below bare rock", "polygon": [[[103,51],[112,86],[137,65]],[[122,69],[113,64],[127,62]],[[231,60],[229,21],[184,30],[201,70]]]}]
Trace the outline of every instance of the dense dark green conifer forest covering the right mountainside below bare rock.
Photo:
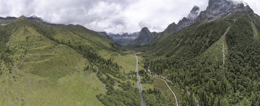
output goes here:
[{"label": "dense dark green conifer forest covering the right mountainside below bare rock", "polygon": [[[258,27],[259,32],[258,20],[239,17],[184,28],[170,38],[184,36],[186,42],[180,43],[181,46],[175,47],[173,44],[169,47],[167,45],[170,44],[162,44],[166,46],[145,49],[147,54],[142,54],[146,60],[144,67],[149,67],[152,74],[167,76],[173,85],[184,90],[181,94],[182,106],[195,106],[195,97],[202,106],[239,103],[244,106],[259,106],[260,40],[254,35],[251,24]],[[225,50],[227,53],[223,64],[222,52],[216,56],[205,56],[204,53],[223,36],[229,26],[224,39],[228,48]],[[171,50],[167,52],[167,48]]]}]

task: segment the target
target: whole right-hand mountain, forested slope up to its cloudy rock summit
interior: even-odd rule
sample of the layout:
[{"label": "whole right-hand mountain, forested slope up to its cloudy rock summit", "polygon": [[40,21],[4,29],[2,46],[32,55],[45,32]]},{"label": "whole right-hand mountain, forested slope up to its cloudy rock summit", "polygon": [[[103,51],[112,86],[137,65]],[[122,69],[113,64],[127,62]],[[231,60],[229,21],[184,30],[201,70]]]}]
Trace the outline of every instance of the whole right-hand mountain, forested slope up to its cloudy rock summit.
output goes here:
[{"label": "whole right-hand mountain, forested slope up to its cloudy rock summit", "polygon": [[188,27],[139,51],[146,70],[184,90],[179,105],[259,105],[259,44],[260,16],[248,5],[209,0]]}]

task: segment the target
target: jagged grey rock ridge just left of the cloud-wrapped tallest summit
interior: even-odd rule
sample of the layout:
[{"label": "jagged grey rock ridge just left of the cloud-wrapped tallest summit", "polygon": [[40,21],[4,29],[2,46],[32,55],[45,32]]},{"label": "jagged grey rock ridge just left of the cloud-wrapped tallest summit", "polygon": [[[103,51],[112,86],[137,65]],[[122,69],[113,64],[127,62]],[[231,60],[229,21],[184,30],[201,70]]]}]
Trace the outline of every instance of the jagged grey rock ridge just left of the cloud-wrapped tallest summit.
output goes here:
[{"label": "jagged grey rock ridge just left of the cloud-wrapped tallest summit", "polygon": [[191,24],[193,24],[194,20],[197,18],[199,14],[200,8],[198,6],[194,6],[192,10],[190,11],[190,14],[186,17],[183,17],[182,20],[180,20],[177,24],[172,23],[170,24],[164,32],[167,32],[169,34],[173,34],[174,32],[179,31],[180,29],[184,27],[188,27]]}]

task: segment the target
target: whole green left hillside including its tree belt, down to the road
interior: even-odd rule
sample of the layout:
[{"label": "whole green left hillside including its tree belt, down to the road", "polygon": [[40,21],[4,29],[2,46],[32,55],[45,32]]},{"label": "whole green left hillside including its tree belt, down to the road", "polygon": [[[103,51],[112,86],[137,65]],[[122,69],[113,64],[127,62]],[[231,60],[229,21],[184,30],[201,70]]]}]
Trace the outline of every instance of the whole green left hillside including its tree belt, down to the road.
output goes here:
[{"label": "whole green left hillside including its tree belt, down to the road", "polygon": [[[0,34],[0,105],[141,105],[136,57],[96,32],[41,26],[21,16],[1,26]],[[147,97],[171,99],[156,89],[164,87],[142,85],[156,91]],[[169,103],[157,97],[152,105]]]}]

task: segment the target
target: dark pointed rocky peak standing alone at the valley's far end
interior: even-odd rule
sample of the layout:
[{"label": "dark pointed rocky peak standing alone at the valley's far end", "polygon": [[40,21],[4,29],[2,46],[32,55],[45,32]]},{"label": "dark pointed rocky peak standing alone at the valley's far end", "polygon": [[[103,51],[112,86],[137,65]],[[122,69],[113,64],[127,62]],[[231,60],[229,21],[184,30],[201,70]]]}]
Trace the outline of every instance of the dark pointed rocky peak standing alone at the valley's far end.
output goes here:
[{"label": "dark pointed rocky peak standing alone at the valley's far end", "polygon": [[135,43],[150,43],[152,39],[157,36],[157,32],[150,32],[147,27],[144,27],[141,29],[141,31],[138,34],[138,37],[134,39],[134,41],[131,44]]}]

